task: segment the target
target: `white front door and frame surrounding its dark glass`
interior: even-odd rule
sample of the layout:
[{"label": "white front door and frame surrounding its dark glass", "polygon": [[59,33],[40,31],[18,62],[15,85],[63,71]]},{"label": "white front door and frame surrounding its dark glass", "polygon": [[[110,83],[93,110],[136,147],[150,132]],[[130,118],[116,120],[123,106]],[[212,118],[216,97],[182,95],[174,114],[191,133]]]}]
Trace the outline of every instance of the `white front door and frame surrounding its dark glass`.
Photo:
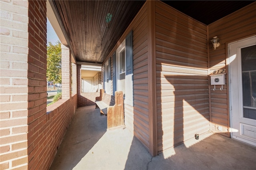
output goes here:
[{"label": "white front door and frame surrounding its dark glass", "polygon": [[[243,45],[243,43],[245,43]],[[244,135],[242,135],[242,128],[243,128],[243,125],[246,125],[247,127],[250,127],[251,124],[255,125],[255,120],[252,121],[252,119],[248,119],[248,118],[244,118],[243,117],[243,108],[241,107],[242,106],[242,81],[239,81],[242,79],[242,67],[241,67],[241,61],[239,61],[237,59],[237,63],[235,61],[235,59],[238,57],[238,55],[241,55],[240,53],[238,55],[233,55],[234,53],[231,51],[231,46],[232,48],[237,48],[236,50],[240,49],[240,48],[243,48],[243,47],[248,47],[248,46],[251,46],[253,44],[256,44],[256,36],[252,36],[252,37],[248,37],[248,38],[244,38],[242,40],[238,40],[236,42],[232,42],[232,43],[228,43],[228,59],[227,59],[227,64],[228,64],[228,77],[229,77],[229,104],[230,104],[230,108],[229,108],[229,111],[230,111],[230,134],[231,134],[231,137],[234,138],[234,139],[237,139],[237,140],[240,140],[242,142],[246,142],[248,144],[251,144],[253,146],[256,146],[256,142],[255,140],[250,137],[248,137],[246,139],[246,137],[244,137]],[[234,49],[233,49],[234,50]],[[240,50],[238,50],[240,52]],[[239,58],[240,59],[240,58]],[[234,63],[236,63],[238,66],[238,68],[234,69],[234,67],[236,65],[234,65],[234,63],[232,63],[234,61]],[[232,72],[232,68],[233,68],[233,72]],[[237,78],[234,79],[234,76],[233,76],[233,79],[232,79],[232,74],[234,74],[234,72],[236,71],[237,73]],[[234,85],[232,84],[232,82],[235,84],[237,82],[237,85]],[[232,92],[232,87],[237,87],[238,89],[238,93],[234,94]],[[238,99],[238,105],[234,105],[234,98],[235,99]],[[234,100],[234,101],[233,101]],[[234,103],[233,103],[234,102]],[[234,113],[234,112],[238,111],[239,113]],[[238,116],[239,114],[239,117],[240,118],[237,118],[235,116]],[[239,122],[239,127],[237,129],[237,122],[235,123],[234,125],[234,119],[240,119],[248,124],[243,124],[241,123],[240,121]],[[237,120],[236,120],[237,121]],[[234,128],[236,127],[236,128]],[[252,128],[255,128],[254,126],[251,126]]]}]

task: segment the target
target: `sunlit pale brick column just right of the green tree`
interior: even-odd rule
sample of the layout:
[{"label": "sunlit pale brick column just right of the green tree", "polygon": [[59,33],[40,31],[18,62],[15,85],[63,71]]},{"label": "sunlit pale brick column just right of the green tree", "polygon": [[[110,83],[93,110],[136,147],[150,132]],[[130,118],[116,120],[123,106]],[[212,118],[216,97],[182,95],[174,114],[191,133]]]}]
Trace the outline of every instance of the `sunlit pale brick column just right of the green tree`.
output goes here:
[{"label": "sunlit pale brick column just right of the green tree", "polygon": [[71,97],[71,54],[68,47],[61,45],[62,99]]}]

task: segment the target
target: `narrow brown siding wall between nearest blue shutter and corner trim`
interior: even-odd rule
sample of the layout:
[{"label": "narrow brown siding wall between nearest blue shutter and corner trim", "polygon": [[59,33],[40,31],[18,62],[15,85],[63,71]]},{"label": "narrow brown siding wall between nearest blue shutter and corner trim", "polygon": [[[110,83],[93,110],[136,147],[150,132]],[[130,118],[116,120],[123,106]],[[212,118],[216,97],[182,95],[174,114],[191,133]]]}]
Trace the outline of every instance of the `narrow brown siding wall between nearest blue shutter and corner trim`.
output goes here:
[{"label": "narrow brown siding wall between nearest blue shutter and corner trim", "polygon": [[[146,2],[147,3],[147,2]],[[149,150],[148,115],[148,17],[145,4],[132,23],[134,63],[134,107],[125,106],[125,123]],[[133,112],[128,112],[133,111]],[[132,122],[128,125],[127,123]]]}]

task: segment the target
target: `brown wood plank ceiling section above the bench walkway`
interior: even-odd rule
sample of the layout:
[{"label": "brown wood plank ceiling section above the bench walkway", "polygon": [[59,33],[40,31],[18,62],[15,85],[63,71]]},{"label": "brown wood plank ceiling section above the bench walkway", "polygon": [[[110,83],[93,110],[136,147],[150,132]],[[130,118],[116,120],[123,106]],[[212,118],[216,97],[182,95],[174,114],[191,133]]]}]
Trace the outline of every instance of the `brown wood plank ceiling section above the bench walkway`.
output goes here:
[{"label": "brown wood plank ceiling section above the bench walkway", "polygon": [[102,63],[144,2],[54,0],[76,61]]}]

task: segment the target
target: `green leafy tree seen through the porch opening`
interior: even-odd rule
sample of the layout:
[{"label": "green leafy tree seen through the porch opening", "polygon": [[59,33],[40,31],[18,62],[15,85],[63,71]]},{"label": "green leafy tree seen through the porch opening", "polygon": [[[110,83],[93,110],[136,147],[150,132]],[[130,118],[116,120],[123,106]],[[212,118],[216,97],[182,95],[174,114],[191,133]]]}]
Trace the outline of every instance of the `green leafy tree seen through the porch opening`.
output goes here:
[{"label": "green leafy tree seen through the porch opening", "polygon": [[[61,83],[61,43],[56,42],[53,45],[51,42],[47,45],[47,70],[46,77],[47,81],[52,81],[55,85],[56,83]],[[55,88],[55,86],[54,86]]]}]

